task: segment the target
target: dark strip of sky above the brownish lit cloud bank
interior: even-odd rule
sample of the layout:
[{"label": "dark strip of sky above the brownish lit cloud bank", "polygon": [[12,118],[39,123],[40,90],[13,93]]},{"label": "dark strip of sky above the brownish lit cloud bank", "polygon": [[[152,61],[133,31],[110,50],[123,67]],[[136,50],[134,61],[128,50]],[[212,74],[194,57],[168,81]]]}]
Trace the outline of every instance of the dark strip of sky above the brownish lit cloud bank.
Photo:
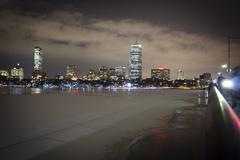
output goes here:
[{"label": "dark strip of sky above the brownish lit cloud bank", "polygon": [[2,7],[39,16],[73,11],[92,18],[136,19],[215,36],[240,34],[240,4],[235,0],[10,0],[3,1]]}]

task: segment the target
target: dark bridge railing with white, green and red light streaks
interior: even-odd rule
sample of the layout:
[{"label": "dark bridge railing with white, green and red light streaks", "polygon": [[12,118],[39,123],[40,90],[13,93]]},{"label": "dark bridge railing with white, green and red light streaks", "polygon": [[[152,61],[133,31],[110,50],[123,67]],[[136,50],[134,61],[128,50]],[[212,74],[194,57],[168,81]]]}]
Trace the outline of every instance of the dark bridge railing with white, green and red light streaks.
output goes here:
[{"label": "dark bridge railing with white, green and red light streaks", "polygon": [[208,159],[240,159],[240,118],[216,86],[210,88],[206,122]]}]

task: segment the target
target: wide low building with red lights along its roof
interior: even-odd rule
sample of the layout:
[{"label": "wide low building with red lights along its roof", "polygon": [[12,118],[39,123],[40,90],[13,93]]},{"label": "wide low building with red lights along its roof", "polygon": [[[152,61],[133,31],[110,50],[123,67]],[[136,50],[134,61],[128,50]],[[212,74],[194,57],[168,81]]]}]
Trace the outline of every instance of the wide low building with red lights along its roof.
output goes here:
[{"label": "wide low building with red lights along its roof", "polygon": [[151,69],[151,78],[159,80],[170,80],[170,69],[167,68]]}]

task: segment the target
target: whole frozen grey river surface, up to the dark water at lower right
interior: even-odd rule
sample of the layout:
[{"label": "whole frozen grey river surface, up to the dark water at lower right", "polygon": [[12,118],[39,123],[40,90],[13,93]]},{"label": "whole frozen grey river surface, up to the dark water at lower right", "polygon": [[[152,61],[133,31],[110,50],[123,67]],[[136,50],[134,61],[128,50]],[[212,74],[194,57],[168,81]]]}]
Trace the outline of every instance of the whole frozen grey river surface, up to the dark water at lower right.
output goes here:
[{"label": "whole frozen grey river surface, up to the dark water at lower right", "polygon": [[103,159],[114,142],[205,101],[203,91],[175,89],[14,93],[0,94],[0,159]]}]

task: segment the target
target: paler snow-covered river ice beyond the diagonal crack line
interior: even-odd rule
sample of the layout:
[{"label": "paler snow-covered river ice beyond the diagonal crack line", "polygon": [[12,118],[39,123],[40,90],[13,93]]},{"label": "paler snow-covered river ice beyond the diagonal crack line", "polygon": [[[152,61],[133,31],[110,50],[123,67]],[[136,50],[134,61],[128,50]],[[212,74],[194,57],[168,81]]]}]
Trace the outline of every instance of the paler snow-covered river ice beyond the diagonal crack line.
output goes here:
[{"label": "paler snow-covered river ice beyond the diagonal crack line", "polygon": [[[193,105],[189,99],[198,92],[157,89],[0,95],[0,159],[28,159],[151,109],[159,113],[141,118],[161,118],[178,107]],[[124,132],[129,128],[134,125]]]}]

